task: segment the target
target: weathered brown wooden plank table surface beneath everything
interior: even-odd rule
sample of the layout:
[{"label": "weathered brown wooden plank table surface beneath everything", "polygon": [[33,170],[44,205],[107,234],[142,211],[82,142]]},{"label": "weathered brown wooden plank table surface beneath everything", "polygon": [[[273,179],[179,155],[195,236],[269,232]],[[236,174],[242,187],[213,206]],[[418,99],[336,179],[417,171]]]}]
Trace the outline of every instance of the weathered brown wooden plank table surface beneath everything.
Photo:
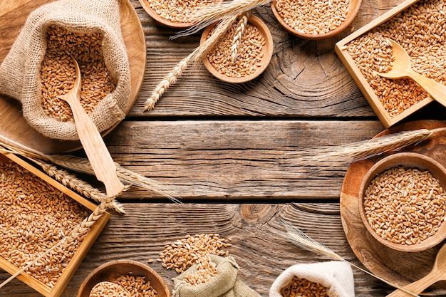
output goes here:
[{"label": "weathered brown wooden plank table surface beneath everything", "polygon": [[[117,259],[147,264],[165,244],[187,234],[215,232],[232,239],[229,254],[241,266],[242,280],[268,296],[275,278],[289,266],[329,260],[274,235],[279,218],[361,266],[339,209],[348,165],[303,174],[289,153],[367,140],[385,130],[334,46],[400,2],[363,0],[351,27],[321,41],[292,36],[279,26],[269,5],[261,6],[254,14],[271,30],[274,55],[259,78],[223,83],[200,64],[185,71],[154,110],[143,112],[157,83],[197,47],[200,36],[170,40],[177,31],[157,24],[132,0],[145,33],[145,78],[132,110],[105,142],[116,162],[165,184],[182,204],[155,192],[125,192],[119,200],[127,214],[113,213],[62,296],[76,296],[83,279],[100,264]],[[445,108],[432,103],[407,121],[442,120],[444,113]],[[172,288],[175,271],[157,261],[148,265]],[[356,296],[393,291],[358,269],[353,274]],[[1,271],[0,279],[8,277]],[[41,295],[14,280],[0,289],[0,296]]]}]

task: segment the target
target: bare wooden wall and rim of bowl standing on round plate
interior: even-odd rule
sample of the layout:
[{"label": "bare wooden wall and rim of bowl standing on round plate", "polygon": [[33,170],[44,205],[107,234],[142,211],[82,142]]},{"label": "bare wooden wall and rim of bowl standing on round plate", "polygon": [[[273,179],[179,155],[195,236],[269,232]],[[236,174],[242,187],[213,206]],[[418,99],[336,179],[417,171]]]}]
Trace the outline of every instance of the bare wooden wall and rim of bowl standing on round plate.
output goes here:
[{"label": "bare wooden wall and rim of bowl standing on round plate", "polygon": [[361,214],[361,219],[363,220],[363,224],[370,234],[381,244],[388,246],[390,249],[406,252],[424,251],[426,249],[430,249],[433,246],[440,244],[440,242],[446,238],[446,222],[442,222],[440,224],[440,227],[435,234],[427,237],[427,239],[423,241],[420,241],[418,244],[397,244],[387,239],[383,239],[368,223],[364,210],[365,190],[368,188],[372,179],[378,174],[398,166],[417,168],[418,170],[428,170],[432,174],[432,177],[439,180],[440,186],[443,189],[446,189],[446,169],[436,160],[416,152],[400,152],[390,155],[373,165],[373,167],[368,170],[367,174],[365,174],[363,181],[361,182],[358,196],[358,208]]}]

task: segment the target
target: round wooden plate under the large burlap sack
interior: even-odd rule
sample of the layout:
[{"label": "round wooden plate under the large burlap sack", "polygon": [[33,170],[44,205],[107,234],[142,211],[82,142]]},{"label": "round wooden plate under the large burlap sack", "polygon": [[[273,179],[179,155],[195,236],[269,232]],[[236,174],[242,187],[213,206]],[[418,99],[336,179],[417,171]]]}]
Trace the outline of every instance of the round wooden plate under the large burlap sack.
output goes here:
[{"label": "round wooden plate under the large burlap sack", "polygon": [[[31,11],[54,0],[16,0],[0,1],[0,62],[9,53],[12,44],[25,24]],[[119,0],[121,30],[130,62],[131,93],[127,114],[135,103],[145,73],[146,48],[145,36],[138,14],[129,0]],[[41,135],[28,125],[21,115],[18,100],[0,94],[0,141],[9,145],[38,150],[46,154],[70,152],[81,148],[81,142],[54,140]],[[116,124],[118,125],[118,123]],[[113,127],[103,132],[106,135]]]}]

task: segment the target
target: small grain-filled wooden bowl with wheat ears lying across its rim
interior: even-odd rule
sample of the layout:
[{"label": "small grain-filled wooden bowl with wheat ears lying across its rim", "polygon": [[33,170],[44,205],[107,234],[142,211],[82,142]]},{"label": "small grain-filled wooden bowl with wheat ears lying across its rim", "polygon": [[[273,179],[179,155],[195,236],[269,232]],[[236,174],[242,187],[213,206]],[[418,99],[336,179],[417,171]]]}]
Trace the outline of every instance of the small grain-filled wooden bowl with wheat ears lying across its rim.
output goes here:
[{"label": "small grain-filled wooden bowl with wheat ears lying across its rim", "polygon": [[[240,38],[235,38],[237,43],[234,37],[242,22],[245,24],[244,31]],[[216,26],[212,24],[204,29],[200,44],[212,35]],[[236,43],[237,46],[234,46]],[[233,46],[235,51],[232,51]],[[265,71],[271,62],[273,48],[273,38],[264,21],[256,16],[243,16],[232,24],[217,45],[207,53],[203,64],[219,80],[246,83]]]}]

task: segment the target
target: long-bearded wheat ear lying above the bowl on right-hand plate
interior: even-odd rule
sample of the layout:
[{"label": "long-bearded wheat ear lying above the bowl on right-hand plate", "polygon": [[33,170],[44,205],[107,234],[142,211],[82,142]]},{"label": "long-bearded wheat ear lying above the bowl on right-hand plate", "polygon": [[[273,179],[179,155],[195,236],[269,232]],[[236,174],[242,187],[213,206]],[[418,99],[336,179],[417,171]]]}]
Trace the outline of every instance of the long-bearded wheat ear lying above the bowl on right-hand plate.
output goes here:
[{"label": "long-bearded wheat ear lying above the bowl on right-hand plate", "polygon": [[408,145],[422,142],[436,132],[444,132],[446,127],[433,130],[420,129],[398,132],[370,140],[346,145],[313,147],[291,152],[293,161],[301,162],[355,162],[390,150],[399,150]]}]

